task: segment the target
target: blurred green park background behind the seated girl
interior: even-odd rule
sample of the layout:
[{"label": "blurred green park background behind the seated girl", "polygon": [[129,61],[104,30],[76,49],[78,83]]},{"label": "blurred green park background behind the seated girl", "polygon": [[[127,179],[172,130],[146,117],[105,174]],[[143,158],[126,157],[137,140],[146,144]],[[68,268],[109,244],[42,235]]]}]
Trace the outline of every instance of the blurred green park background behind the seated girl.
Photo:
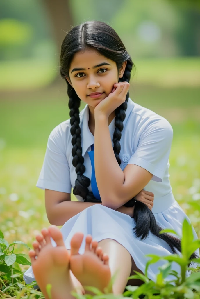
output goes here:
[{"label": "blurred green park background behind the seated girl", "polygon": [[[131,99],[171,123],[171,186],[200,238],[199,2],[2,0],[0,12],[0,229],[5,239],[32,248],[35,235],[49,226],[44,191],[35,184],[51,130],[69,118],[60,45],[72,26],[87,20],[116,30],[137,68]],[[20,245],[16,250],[28,253]]]}]

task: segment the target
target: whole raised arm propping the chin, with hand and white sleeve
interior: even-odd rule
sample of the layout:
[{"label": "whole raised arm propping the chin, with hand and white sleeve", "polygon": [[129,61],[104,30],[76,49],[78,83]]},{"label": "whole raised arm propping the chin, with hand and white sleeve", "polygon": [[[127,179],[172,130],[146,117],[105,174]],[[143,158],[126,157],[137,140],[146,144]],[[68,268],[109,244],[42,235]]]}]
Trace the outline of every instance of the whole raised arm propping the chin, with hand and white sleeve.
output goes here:
[{"label": "whole raised arm propping the chin, with hand and white sleeve", "polygon": [[137,149],[128,165],[122,171],[112,148],[108,117],[126,100],[129,83],[115,83],[115,87],[116,90],[113,89],[94,109],[94,162],[102,205],[116,210],[136,196],[151,179],[162,182],[169,158],[173,129],[164,118],[152,119],[142,132]]}]

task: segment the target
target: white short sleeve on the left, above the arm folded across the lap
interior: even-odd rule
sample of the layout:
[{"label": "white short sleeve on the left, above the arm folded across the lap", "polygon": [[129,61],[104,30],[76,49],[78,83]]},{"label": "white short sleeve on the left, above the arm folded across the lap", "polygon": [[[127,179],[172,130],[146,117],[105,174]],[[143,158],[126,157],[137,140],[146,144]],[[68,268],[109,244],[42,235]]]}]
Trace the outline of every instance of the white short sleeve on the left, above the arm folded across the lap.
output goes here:
[{"label": "white short sleeve on the left, above the arm folded across the lap", "polygon": [[70,168],[64,142],[56,128],[50,133],[36,187],[71,193]]}]

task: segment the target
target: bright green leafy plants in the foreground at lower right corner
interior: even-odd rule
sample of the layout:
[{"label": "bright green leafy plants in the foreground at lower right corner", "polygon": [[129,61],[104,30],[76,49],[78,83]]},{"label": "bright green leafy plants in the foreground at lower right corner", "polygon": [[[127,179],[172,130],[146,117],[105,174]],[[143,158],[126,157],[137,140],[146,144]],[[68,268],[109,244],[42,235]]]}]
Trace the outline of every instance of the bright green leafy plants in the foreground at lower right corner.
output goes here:
[{"label": "bright green leafy plants in the foreground at lower right corner", "polygon": [[[174,230],[163,229],[162,233],[173,233],[178,235]],[[179,235],[178,235],[179,236]],[[121,298],[133,298],[133,299],[200,299],[200,269],[189,268],[188,264],[193,261],[200,262],[200,258],[189,260],[191,254],[200,247],[200,240],[193,240],[192,225],[184,219],[182,226],[181,239],[181,256],[178,254],[171,254],[169,256],[157,256],[154,254],[146,254],[151,257],[146,263],[145,274],[134,271],[136,274],[128,277],[127,279],[140,279],[144,283],[141,286],[126,286],[127,291],[123,295],[113,295],[105,292],[103,294],[96,288],[84,287],[85,290],[92,291],[95,295],[79,295],[72,292],[72,295],[77,299],[121,299]],[[152,281],[147,277],[147,270],[150,264],[156,263],[159,260],[167,260],[168,262],[161,267],[158,267],[160,272],[157,274],[156,281]],[[171,270],[171,263],[178,263],[181,267],[181,273]],[[189,277],[186,277],[186,270],[193,270],[193,273]],[[167,280],[167,277],[171,275],[174,279]],[[112,277],[113,278],[113,277]],[[112,280],[113,283],[114,280]],[[111,283],[111,284],[112,284]]]}]

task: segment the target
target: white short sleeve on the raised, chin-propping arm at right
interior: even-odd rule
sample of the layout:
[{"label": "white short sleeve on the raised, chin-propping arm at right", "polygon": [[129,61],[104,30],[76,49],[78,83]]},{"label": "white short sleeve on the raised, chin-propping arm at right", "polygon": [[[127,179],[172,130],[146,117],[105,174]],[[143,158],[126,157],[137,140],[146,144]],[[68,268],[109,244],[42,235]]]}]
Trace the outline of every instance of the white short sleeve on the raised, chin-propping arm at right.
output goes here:
[{"label": "white short sleeve on the raised, chin-propping arm at right", "polygon": [[153,174],[153,181],[162,182],[172,139],[173,129],[168,120],[152,121],[140,135],[137,149],[128,164],[139,165]]}]

